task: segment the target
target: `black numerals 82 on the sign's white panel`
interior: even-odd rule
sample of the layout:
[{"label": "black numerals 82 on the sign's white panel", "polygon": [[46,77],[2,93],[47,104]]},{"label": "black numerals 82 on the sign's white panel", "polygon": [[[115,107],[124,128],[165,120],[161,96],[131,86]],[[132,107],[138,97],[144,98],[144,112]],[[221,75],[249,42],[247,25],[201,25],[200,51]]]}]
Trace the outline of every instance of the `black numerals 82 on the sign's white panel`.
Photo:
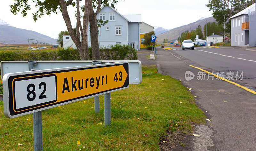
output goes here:
[{"label": "black numerals 82 on the sign's white panel", "polygon": [[[46,83],[45,82],[41,82],[39,84],[38,89],[41,89],[42,86],[44,87],[44,90],[39,95],[39,99],[46,98],[46,95],[44,95],[44,93],[46,91]],[[32,90],[31,90],[31,88],[32,88]],[[27,87],[27,91],[28,91],[27,98],[28,98],[29,101],[34,101],[36,99],[36,92],[35,92],[35,90],[36,90],[35,84],[33,84],[33,83],[28,84],[28,87]],[[32,97],[31,97],[31,94],[32,94]]]}]

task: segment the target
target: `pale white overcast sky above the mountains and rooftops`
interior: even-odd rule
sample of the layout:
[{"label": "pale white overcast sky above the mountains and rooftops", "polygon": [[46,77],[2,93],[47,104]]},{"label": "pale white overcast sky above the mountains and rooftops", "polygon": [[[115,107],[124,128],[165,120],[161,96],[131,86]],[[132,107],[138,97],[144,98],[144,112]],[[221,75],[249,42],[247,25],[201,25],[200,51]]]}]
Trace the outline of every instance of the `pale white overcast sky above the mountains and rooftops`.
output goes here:
[{"label": "pale white overcast sky above the mountains and rooftops", "polygon": [[[10,11],[10,5],[13,3],[12,0],[5,0],[0,5],[0,19],[11,26],[33,30],[55,39],[60,31],[67,30],[61,13],[44,15],[35,22],[31,15],[36,11],[35,8],[29,11],[26,17],[22,17],[20,13],[13,15]],[[208,4],[208,0],[120,0],[115,6],[123,15],[141,14],[142,21],[149,25],[171,29],[195,22],[200,19],[199,16],[212,16],[205,4]],[[68,7],[68,11],[74,26],[76,19],[73,14],[76,9]]]}]

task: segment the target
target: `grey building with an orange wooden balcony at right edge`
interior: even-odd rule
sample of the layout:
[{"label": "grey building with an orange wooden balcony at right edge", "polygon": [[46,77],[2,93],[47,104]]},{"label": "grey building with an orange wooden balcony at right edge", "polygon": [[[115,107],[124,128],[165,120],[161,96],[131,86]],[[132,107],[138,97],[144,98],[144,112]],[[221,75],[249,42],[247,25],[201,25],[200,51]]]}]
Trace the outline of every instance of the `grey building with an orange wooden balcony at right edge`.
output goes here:
[{"label": "grey building with an orange wooden balcony at right edge", "polygon": [[231,46],[256,46],[255,3],[229,19],[231,20]]}]

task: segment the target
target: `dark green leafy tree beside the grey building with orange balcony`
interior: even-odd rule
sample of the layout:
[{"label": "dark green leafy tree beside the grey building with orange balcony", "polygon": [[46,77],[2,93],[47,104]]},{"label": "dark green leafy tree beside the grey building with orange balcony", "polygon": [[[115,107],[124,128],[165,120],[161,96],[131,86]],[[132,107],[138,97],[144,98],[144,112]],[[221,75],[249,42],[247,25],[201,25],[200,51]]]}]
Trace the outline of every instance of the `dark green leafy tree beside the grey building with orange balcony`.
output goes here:
[{"label": "dark green leafy tree beside the grey building with orange balcony", "polygon": [[213,11],[213,18],[219,25],[222,25],[222,29],[223,24],[226,23],[224,30],[226,33],[230,33],[231,20],[229,18],[253,3],[254,0],[209,0],[209,4],[206,6],[210,11]]}]

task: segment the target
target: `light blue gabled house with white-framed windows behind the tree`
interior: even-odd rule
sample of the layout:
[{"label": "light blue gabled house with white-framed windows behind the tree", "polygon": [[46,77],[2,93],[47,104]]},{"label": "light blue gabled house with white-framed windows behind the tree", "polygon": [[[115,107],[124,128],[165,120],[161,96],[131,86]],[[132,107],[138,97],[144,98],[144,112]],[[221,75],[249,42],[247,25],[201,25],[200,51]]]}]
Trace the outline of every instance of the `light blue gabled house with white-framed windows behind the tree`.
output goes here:
[{"label": "light blue gabled house with white-framed windows behind the tree", "polygon": [[[129,44],[140,50],[141,15],[121,15],[111,6],[105,6],[97,14],[97,19],[108,20],[108,23],[98,28],[99,46],[109,44]],[[91,46],[90,31],[88,45]]]}]

